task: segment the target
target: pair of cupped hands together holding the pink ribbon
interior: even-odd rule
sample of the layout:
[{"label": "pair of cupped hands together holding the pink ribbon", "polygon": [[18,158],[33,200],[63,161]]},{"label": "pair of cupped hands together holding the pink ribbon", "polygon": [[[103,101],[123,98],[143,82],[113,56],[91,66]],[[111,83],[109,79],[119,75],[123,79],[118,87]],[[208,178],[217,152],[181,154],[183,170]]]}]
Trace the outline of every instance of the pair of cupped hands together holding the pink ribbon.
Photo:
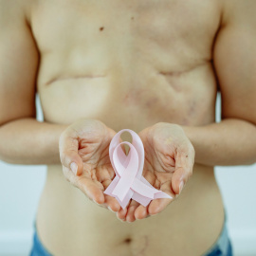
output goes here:
[{"label": "pair of cupped hands together holding the pink ribbon", "polygon": [[99,120],[81,119],[69,126],[60,137],[64,176],[89,199],[117,212],[120,220],[133,222],[161,212],[192,175],[192,143],[178,125],[157,123],[142,130],[139,137],[145,147],[143,176],[172,199],[155,199],[147,207],[131,200],[122,210],[114,197],[103,193],[115,177],[108,152],[115,134]]}]

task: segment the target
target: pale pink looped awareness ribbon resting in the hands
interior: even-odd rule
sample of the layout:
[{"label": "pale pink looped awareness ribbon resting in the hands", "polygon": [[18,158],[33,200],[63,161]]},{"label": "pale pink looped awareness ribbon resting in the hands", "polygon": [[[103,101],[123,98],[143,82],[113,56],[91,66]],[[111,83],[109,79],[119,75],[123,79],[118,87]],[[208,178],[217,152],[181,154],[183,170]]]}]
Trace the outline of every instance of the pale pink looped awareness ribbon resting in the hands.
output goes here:
[{"label": "pale pink looped awareness ribbon resting in the hands", "polygon": [[[119,143],[119,137],[123,132],[131,134],[132,144],[128,141]],[[121,149],[121,144],[129,145],[128,155],[125,155]],[[156,190],[142,176],[144,147],[140,137],[134,131],[123,129],[112,138],[109,145],[109,157],[116,176],[104,193],[116,197],[122,209],[128,205],[131,198],[144,207],[156,198],[172,198],[169,194]]]}]

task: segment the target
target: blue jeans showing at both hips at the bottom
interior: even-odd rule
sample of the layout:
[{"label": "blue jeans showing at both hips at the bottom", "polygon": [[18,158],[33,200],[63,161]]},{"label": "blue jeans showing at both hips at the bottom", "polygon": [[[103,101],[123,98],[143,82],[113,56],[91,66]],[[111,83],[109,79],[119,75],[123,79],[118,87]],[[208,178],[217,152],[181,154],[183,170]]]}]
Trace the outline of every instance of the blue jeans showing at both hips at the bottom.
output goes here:
[{"label": "blue jeans showing at both hips at the bottom", "polygon": [[[30,256],[53,256],[46,250],[46,248],[42,245],[41,241],[39,240],[35,224],[34,224],[34,228],[35,228],[35,232],[33,237],[33,247],[31,249]],[[216,243],[212,247],[210,247],[208,252],[205,253],[203,256],[232,256],[232,255],[233,255],[232,247],[229,241],[228,230],[225,222],[222,232],[218,237]],[[102,256],[104,255],[102,254]],[[190,256],[190,255],[186,255],[186,256]]]}]

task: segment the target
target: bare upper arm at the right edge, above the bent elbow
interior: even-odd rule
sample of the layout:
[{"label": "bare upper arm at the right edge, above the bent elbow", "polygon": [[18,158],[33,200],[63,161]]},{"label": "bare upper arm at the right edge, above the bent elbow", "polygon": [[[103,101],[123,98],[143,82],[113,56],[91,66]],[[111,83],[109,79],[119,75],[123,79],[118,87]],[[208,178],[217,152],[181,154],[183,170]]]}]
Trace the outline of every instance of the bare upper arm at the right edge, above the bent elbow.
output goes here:
[{"label": "bare upper arm at the right edge, above the bent elbow", "polygon": [[222,26],[213,47],[222,116],[256,123],[256,1],[223,3]]}]

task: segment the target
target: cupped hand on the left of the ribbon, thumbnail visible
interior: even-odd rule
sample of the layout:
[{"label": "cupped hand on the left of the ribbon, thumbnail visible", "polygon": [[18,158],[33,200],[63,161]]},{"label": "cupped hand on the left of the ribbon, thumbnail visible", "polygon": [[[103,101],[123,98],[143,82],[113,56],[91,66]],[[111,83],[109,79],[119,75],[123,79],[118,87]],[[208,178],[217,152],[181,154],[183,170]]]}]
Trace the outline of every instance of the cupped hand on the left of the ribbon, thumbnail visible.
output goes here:
[{"label": "cupped hand on the left of the ribbon, thumbnail visible", "polygon": [[104,194],[115,177],[109,158],[109,144],[116,132],[100,120],[79,119],[60,137],[64,177],[101,207],[118,211],[116,198]]}]

